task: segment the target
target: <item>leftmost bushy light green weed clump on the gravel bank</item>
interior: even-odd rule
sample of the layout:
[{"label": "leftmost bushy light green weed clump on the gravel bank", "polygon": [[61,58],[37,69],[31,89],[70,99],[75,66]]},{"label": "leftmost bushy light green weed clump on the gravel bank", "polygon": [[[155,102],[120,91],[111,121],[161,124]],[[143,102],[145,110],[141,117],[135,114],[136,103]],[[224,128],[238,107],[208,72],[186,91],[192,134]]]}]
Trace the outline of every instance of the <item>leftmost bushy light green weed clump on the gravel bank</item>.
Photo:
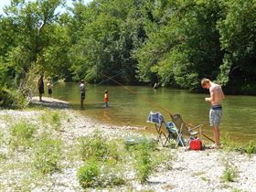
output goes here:
[{"label": "leftmost bushy light green weed clump on the gravel bank", "polygon": [[17,146],[29,147],[33,141],[33,134],[36,132],[37,127],[33,124],[24,121],[16,123],[10,128],[10,141],[11,148]]}]

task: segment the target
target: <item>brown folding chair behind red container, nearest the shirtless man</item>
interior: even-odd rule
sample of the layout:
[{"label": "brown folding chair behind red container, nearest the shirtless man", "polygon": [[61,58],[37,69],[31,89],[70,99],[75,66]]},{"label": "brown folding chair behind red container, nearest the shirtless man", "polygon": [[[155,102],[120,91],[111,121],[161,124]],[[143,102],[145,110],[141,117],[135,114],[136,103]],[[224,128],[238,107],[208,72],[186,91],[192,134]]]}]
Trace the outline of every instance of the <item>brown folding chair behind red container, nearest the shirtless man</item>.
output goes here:
[{"label": "brown folding chair behind red container, nearest the shirtless man", "polygon": [[183,129],[183,127],[186,127],[187,132],[189,133],[190,137],[197,137],[199,135],[199,138],[201,139],[202,136],[206,137],[211,142],[215,143],[211,138],[209,138],[205,133],[202,131],[203,124],[199,124],[197,126],[192,126],[191,124],[187,124],[183,121],[180,114],[173,114],[171,115],[173,123],[176,124],[177,128]]}]

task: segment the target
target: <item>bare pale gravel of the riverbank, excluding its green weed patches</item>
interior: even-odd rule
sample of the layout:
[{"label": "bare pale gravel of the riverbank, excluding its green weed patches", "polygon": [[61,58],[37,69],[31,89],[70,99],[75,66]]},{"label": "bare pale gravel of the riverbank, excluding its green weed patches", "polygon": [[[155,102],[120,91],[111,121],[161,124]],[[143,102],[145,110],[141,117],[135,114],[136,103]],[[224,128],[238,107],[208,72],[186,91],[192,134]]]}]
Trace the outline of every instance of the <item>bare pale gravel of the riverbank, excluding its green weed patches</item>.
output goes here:
[{"label": "bare pale gravel of the riverbank, excluding its green weed patches", "polygon": [[[38,133],[40,133],[41,119],[47,117],[48,113],[59,112],[63,115],[61,128],[58,132],[52,131],[52,136],[59,136],[66,147],[64,152],[69,151],[70,148],[77,144],[81,137],[92,135],[96,131],[110,140],[121,139],[124,140],[128,136],[140,137],[143,134],[131,132],[131,129],[111,126],[107,124],[97,123],[89,117],[82,116],[79,112],[75,112],[69,108],[69,103],[59,101],[56,99],[43,98],[43,102],[37,101],[33,98],[32,103],[35,108],[30,108],[24,111],[2,110],[0,111],[0,131],[3,134],[3,142],[0,147],[0,155],[6,156],[1,159],[2,168],[0,169],[0,189],[4,191],[16,190],[21,184],[27,182],[28,189],[32,191],[84,191],[80,187],[77,179],[77,171],[83,163],[78,159],[69,160],[65,157],[61,161],[62,170],[60,172],[48,175],[45,180],[37,185],[29,183],[29,179],[25,179],[26,168],[18,167],[18,162],[26,162],[29,159],[30,149],[28,154],[22,151],[10,152],[7,141],[10,138],[10,127],[12,124],[24,120],[28,123],[38,125]],[[41,106],[47,107],[40,108]],[[38,107],[38,108],[37,108]],[[40,121],[39,121],[40,120]],[[46,120],[48,122],[48,119]],[[133,130],[133,129],[132,129]],[[155,134],[146,134],[148,138],[155,138]],[[176,155],[175,160],[170,160],[169,164],[171,169],[160,165],[149,176],[148,181],[141,184],[134,178],[134,173],[131,170],[125,174],[125,178],[129,185],[120,187],[93,189],[90,191],[254,191],[256,188],[256,156],[241,155],[238,152],[229,152],[223,149],[206,149],[204,151],[186,151],[184,147],[177,149],[158,147],[160,151],[172,152]],[[72,150],[71,150],[72,151]],[[69,152],[70,153],[70,152]],[[28,156],[27,156],[28,155]],[[11,157],[11,158],[8,158]],[[29,161],[28,161],[29,162]],[[160,164],[161,162],[159,162]],[[168,162],[167,162],[168,163]],[[28,163],[27,163],[28,164]],[[223,182],[221,176],[225,171],[226,165],[234,167],[237,170],[237,178],[234,182]],[[10,168],[10,171],[5,171],[7,167],[17,167],[16,169]],[[25,165],[26,166],[26,165]],[[249,168],[250,167],[250,168]],[[31,173],[31,175],[33,175]],[[26,182],[25,182],[25,181]],[[22,182],[24,181],[24,182]]]}]

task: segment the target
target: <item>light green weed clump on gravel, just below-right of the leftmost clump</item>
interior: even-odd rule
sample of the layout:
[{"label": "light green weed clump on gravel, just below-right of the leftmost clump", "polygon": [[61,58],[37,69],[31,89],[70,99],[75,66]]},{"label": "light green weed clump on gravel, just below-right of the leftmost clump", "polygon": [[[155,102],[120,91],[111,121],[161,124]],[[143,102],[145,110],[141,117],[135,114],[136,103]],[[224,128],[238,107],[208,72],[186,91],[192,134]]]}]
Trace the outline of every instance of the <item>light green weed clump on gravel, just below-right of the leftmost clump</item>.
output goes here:
[{"label": "light green weed clump on gravel, just below-right of the leftmost clump", "polygon": [[60,141],[51,139],[46,133],[38,140],[34,149],[33,164],[42,174],[50,174],[60,169],[60,147]]}]

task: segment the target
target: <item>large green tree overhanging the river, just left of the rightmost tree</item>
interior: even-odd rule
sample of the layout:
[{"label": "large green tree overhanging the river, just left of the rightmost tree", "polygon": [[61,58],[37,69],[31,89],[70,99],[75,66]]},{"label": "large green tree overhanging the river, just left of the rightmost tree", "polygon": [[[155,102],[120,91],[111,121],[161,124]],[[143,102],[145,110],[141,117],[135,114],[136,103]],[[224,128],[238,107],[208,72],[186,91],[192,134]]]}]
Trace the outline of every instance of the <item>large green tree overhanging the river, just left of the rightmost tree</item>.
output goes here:
[{"label": "large green tree overhanging the river, just left of the rightmost tree", "polygon": [[[223,53],[219,46],[218,1],[173,1],[165,7],[169,21],[149,34],[137,51],[141,80],[196,89],[202,77],[216,79]],[[172,14],[170,15],[169,12]]]}]

